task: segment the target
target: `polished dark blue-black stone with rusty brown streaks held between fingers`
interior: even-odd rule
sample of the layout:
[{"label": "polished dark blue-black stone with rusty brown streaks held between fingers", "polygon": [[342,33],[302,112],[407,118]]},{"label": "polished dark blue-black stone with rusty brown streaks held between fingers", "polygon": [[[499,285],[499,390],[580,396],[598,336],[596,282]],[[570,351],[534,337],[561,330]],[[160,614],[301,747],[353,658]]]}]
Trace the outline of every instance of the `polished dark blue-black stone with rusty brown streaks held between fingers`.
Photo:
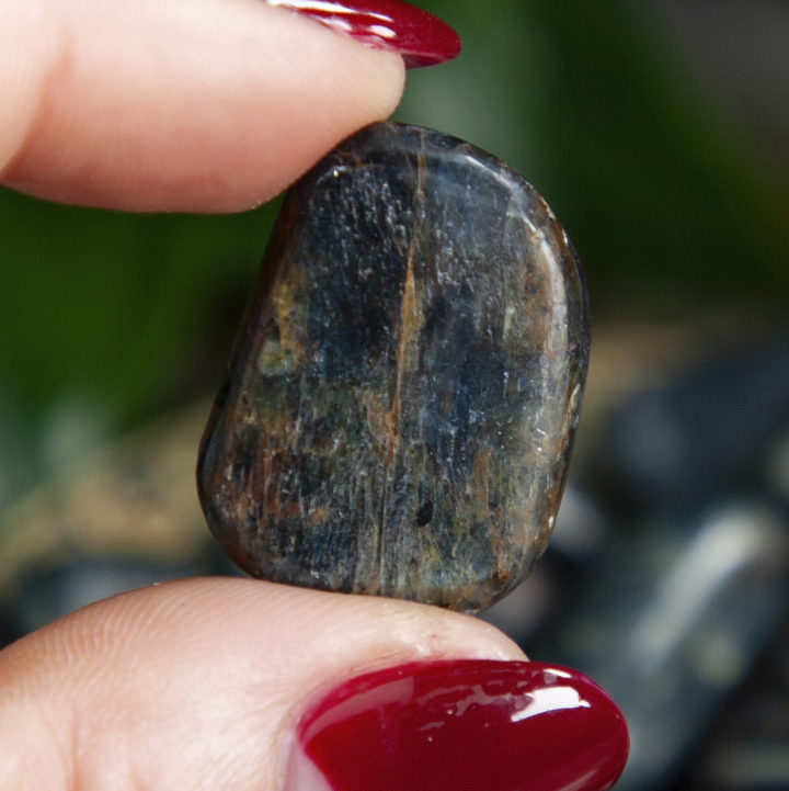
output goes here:
[{"label": "polished dark blue-black stone with rusty brown streaks held between fingers", "polygon": [[545,201],[468,143],[375,124],[288,192],[201,449],[249,574],[459,610],[545,550],[588,357]]}]

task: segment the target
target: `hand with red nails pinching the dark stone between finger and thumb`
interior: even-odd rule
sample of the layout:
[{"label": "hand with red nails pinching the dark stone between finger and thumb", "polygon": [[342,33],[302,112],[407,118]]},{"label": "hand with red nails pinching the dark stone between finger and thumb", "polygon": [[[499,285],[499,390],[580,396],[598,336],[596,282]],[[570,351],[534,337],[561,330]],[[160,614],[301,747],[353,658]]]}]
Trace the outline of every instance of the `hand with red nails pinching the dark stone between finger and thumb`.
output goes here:
[{"label": "hand with red nails pinching the dark stone between finger and thumb", "polygon": [[[125,210],[250,207],[402,88],[396,54],[260,0],[7,0],[0,52],[2,181]],[[524,659],[426,606],[157,586],[0,653],[0,788],[476,791],[480,771],[494,791],[606,788],[618,712],[579,674]]]}]

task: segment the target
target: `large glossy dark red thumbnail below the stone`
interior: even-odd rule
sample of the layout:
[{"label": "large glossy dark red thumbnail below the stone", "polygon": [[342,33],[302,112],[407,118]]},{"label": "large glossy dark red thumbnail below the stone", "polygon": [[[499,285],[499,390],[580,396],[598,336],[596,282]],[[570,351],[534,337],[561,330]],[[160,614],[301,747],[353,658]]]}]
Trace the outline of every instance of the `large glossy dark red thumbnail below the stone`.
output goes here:
[{"label": "large glossy dark red thumbnail below the stone", "polygon": [[354,678],[299,721],[286,791],[602,791],[625,720],[576,670],[441,662]]}]

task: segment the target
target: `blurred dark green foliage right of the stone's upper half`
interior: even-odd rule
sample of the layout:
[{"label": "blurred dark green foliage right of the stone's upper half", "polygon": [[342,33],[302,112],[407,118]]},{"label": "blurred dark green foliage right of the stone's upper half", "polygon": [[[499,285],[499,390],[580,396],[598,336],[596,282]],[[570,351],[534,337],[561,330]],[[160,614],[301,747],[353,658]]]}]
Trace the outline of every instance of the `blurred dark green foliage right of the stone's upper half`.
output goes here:
[{"label": "blurred dark green foliage right of the stone's upper half", "polygon": [[456,25],[464,55],[413,74],[399,117],[470,139],[531,180],[580,250],[596,313],[789,296],[789,184],[650,3],[431,10]]}]

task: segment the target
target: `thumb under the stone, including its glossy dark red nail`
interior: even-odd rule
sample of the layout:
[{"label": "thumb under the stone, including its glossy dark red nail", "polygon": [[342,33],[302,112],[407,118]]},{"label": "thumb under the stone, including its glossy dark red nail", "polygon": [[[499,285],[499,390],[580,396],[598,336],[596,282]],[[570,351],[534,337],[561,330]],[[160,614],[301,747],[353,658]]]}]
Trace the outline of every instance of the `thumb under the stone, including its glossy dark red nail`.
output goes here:
[{"label": "thumb under the stone, including its glossy dark red nail", "polygon": [[[512,778],[505,778],[508,784],[496,782],[498,753],[506,742],[501,717],[488,716],[487,725],[477,722],[477,736],[461,750],[455,725],[447,723],[449,742],[455,739],[451,755],[447,759],[441,752],[434,754],[433,764],[415,755],[409,741],[413,735],[421,738],[418,753],[433,746],[446,750],[428,727],[441,721],[436,702],[449,719],[462,723],[479,720],[476,711],[531,700],[528,696],[534,698],[550,674],[542,666],[517,662],[523,658],[515,645],[482,621],[426,606],[241,579],[157,586],[88,607],[0,652],[0,788],[420,791],[478,788],[473,766],[493,776],[487,787],[494,791],[537,788],[513,784]],[[393,671],[382,669],[392,667]],[[488,680],[480,680],[480,667]],[[495,678],[491,667],[499,668]],[[534,673],[529,676],[525,668],[542,668],[541,680],[536,683]],[[433,674],[427,680],[425,669]],[[358,676],[367,671],[373,675],[363,676],[359,687]],[[557,673],[550,683],[556,683]],[[563,708],[569,707],[568,694],[575,694],[576,701],[582,697],[587,709],[579,704],[574,711],[582,712],[582,720],[587,710],[594,711],[595,727],[587,727],[586,716],[586,736],[579,741],[574,721],[558,717],[562,739],[568,736],[574,745],[567,757],[567,750],[557,749],[560,732],[550,722],[524,731],[522,723],[529,721],[523,711],[519,719],[510,712],[506,727],[512,731],[511,723],[517,723],[521,730],[503,765],[511,773],[525,772],[528,780],[529,772],[545,775],[548,756],[554,784],[545,784],[544,777],[539,788],[567,788],[568,766],[575,779],[583,778],[573,788],[607,787],[610,756],[617,747],[622,749],[624,726],[610,712],[603,716],[608,704],[601,702],[603,693],[591,682],[579,677],[562,685],[561,689],[575,685],[580,690],[563,693]],[[526,698],[515,694],[526,688]],[[557,691],[552,689],[553,698]],[[393,694],[393,720],[389,709],[381,708],[381,694]],[[461,711],[464,705],[468,713]],[[540,705],[545,711],[545,701]],[[398,741],[393,724],[401,715],[405,724]],[[343,735],[348,724],[352,731]],[[495,741],[484,742],[491,728]],[[327,733],[333,745],[324,739],[321,748]],[[524,750],[528,733],[542,739],[537,759]],[[607,756],[603,764],[608,775],[590,771],[590,739],[597,759],[602,753]],[[318,752],[312,750],[316,744]],[[480,760],[474,745],[484,747],[490,761]],[[305,761],[308,753],[311,759]],[[465,759],[471,761],[470,769],[464,768]],[[387,760],[393,760],[393,768]],[[524,760],[531,768],[524,769]],[[451,780],[453,761],[460,771],[471,772],[465,784],[464,776],[445,784]]]}]

